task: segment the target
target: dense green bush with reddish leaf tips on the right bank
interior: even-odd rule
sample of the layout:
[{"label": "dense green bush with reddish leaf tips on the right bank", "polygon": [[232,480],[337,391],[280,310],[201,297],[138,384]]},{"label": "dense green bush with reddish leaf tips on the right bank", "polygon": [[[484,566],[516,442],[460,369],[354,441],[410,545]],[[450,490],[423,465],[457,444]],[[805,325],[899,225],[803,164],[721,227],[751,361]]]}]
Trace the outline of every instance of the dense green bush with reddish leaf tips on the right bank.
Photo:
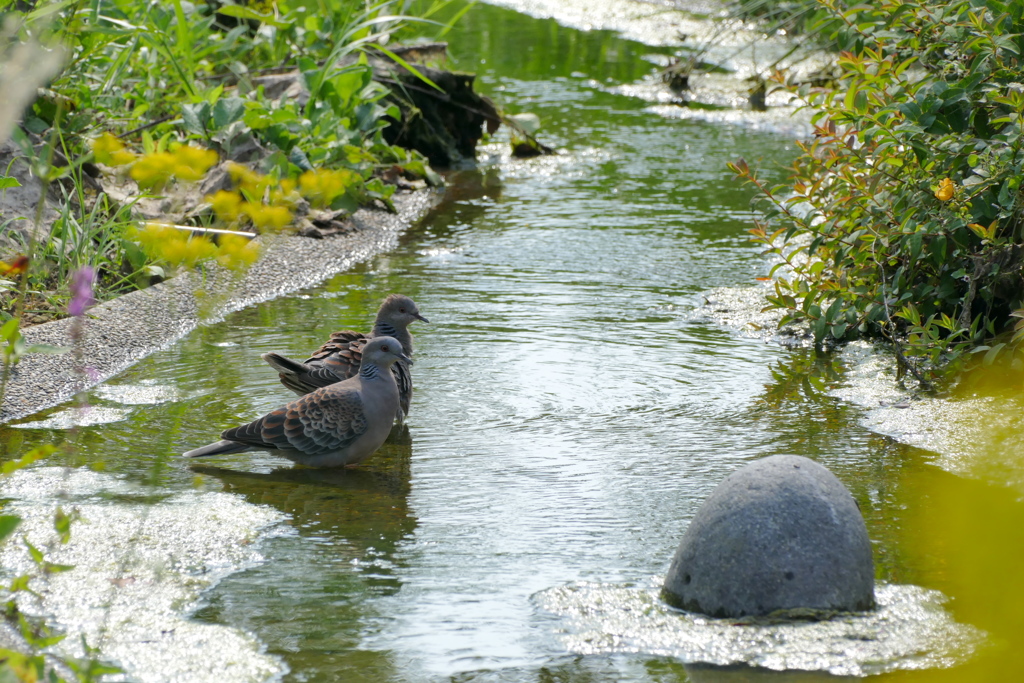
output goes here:
[{"label": "dense green bush with reddish leaf tips on the right bank", "polygon": [[991,361],[1024,338],[1024,1],[820,1],[842,76],[801,93],[814,140],[784,185],[731,165],[761,189],[770,306],[817,343],[888,339],[926,384]]}]

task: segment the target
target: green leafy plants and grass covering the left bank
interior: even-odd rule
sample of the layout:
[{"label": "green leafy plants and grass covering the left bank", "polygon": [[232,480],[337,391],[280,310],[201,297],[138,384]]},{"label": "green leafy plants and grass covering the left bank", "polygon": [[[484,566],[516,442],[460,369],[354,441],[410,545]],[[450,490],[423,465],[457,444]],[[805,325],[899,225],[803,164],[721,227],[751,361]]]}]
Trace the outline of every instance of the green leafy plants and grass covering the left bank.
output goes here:
[{"label": "green leafy plants and grass covering the left bank", "polygon": [[[0,10],[10,39],[59,44],[67,54],[13,131],[26,162],[45,183],[58,182],[62,199],[48,239],[15,245],[30,257],[24,282],[0,273],[10,283],[0,283],[2,319],[38,323],[62,314],[61,292],[82,265],[97,269],[100,300],[162,276],[159,257],[137,240],[132,203],[87,189],[94,161],[130,167],[131,178],[157,195],[176,177],[201,179],[208,168],[181,163],[175,150],[255,160],[249,166],[268,178],[263,190],[278,188],[279,199],[305,173],[354,172],[327,205],[348,212],[374,203],[393,209],[394,186],[384,179],[393,181],[396,172],[438,179],[422,156],[381,136],[398,112],[383,103],[388,91],[373,80],[366,53],[387,53],[390,36],[415,20],[395,2],[280,0],[217,3],[214,10],[179,1],[53,0],[19,7]],[[283,67],[297,70],[308,97],[266,94],[260,78]],[[52,144],[40,144],[40,137]],[[187,167],[197,174],[177,175]],[[0,191],[17,182],[0,176]],[[243,216],[246,228],[280,229],[292,216],[272,197],[249,193],[240,201],[253,209]],[[18,310],[15,283],[27,295]]]}]

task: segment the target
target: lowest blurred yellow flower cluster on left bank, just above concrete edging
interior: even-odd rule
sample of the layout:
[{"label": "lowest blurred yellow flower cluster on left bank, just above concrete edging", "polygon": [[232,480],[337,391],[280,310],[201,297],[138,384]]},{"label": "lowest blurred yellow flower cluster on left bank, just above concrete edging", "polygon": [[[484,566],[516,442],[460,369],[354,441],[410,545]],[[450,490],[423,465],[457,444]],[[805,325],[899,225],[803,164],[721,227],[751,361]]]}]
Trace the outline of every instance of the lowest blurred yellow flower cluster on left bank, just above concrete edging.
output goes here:
[{"label": "lowest blurred yellow flower cluster on left bank, just above concrete edging", "polygon": [[174,266],[191,268],[215,259],[224,267],[240,270],[259,258],[259,245],[241,236],[220,236],[218,244],[214,244],[205,236],[194,236],[163,223],[146,223],[136,230],[135,239],[151,259]]}]

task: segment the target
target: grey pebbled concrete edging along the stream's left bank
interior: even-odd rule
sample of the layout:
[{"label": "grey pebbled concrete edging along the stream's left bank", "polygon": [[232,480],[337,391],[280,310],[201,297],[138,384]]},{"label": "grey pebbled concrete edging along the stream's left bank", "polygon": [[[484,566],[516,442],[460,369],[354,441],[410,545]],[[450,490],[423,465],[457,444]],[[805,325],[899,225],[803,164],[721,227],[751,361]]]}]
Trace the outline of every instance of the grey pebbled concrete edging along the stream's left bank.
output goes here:
[{"label": "grey pebbled concrete edging along the stream's left bank", "polygon": [[[0,421],[56,405],[199,325],[315,285],[393,248],[398,236],[424,215],[435,198],[430,190],[396,194],[396,214],[360,209],[349,219],[353,229],[347,234],[325,240],[264,239],[262,257],[245,274],[219,267],[183,272],[89,309],[82,321],[77,353],[30,354],[13,369]],[[29,344],[76,346],[74,326],[72,318],[54,321],[27,329],[25,338]]]}]

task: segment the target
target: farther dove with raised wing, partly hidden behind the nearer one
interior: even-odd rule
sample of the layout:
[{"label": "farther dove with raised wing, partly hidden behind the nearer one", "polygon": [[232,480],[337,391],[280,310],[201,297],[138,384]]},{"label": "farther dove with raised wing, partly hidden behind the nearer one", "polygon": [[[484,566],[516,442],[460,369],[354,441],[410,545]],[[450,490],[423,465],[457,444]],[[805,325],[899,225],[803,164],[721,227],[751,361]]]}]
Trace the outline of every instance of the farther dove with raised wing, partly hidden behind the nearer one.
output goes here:
[{"label": "farther dove with raised wing, partly hidden behind the nearer one", "polygon": [[[401,342],[406,355],[412,357],[413,335],[409,326],[414,321],[430,323],[420,313],[419,307],[411,298],[402,294],[390,294],[377,309],[377,319],[369,335],[351,330],[335,332],[302,362],[272,352],[264,353],[262,358],[278,371],[282,384],[301,396],[354,376],[359,370],[362,348],[371,339],[393,337]],[[395,417],[400,424],[409,415],[413,399],[413,376],[404,361],[394,364],[391,370],[398,383],[401,411]]]}]

